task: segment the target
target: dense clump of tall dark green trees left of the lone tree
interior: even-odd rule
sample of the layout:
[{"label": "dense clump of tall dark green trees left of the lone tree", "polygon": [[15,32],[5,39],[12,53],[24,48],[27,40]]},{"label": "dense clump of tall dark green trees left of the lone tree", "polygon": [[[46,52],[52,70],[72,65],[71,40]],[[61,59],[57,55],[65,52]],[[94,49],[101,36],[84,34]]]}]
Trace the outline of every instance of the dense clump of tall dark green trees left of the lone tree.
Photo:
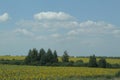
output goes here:
[{"label": "dense clump of tall dark green trees left of the lone tree", "polygon": [[25,64],[29,65],[46,65],[58,62],[58,56],[56,50],[52,52],[48,49],[46,52],[43,48],[39,51],[34,48],[30,49],[28,55],[25,58]]}]

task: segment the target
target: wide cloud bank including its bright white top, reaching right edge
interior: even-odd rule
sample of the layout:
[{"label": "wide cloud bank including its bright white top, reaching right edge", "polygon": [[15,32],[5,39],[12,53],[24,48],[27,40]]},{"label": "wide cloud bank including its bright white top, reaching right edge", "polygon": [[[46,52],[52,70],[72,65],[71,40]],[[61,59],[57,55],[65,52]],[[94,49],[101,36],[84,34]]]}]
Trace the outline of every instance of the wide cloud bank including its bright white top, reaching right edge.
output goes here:
[{"label": "wide cloud bank including its bright white top, reaching right edge", "polygon": [[[40,12],[34,16],[36,20],[22,20],[17,25],[25,30],[18,32],[37,35],[36,39],[47,38],[80,38],[81,36],[119,36],[120,29],[104,21],[79,22],[70,14],[64,12]],[[71,20],[70,20],[71,19]],[[32,31],[28,32],[28,31]],[[42,36],[41,36],[42,35]],[[46,37],[48,36],[48,37]]]}]

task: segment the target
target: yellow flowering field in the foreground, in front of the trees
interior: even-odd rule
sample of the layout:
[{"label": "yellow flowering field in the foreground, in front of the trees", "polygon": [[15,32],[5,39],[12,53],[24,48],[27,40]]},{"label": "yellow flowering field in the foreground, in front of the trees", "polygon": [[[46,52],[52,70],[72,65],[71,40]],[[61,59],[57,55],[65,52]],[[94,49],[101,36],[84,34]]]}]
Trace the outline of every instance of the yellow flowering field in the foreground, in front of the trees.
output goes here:
[{"label": "yellow flowering field in the foreground, in front of the trees", "polygon": [[114,76],[120,69],[0,65],[0,80],[56,80],[71,77]]}]

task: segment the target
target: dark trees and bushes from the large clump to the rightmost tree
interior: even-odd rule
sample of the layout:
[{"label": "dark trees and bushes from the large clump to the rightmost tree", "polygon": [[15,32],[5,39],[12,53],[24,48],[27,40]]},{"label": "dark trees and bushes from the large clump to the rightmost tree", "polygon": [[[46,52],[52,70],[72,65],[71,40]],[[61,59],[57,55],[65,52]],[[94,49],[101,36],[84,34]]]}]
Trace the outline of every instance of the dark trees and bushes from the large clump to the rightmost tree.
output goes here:
[{"label": "dark trees and bushes from the large clump to the rightmost tree", "polygon": [[84,63],[82,60],[78,60],[76,62],[69,61],[69,55],[67,51],[64,52],[62,58],[62,62],[60,63],[58,61],[58,56],[57,56],[57,51],[54,50],[52,52],[51,49],[48,49],[47,52],[42,48],[39,51],[34,48],[30,49],[28,52],[28,55],[25,58],[25,64],[27,65],[53,65],[57,64],[59,66],[88,66],[88,67],[102,67],[106,68],[107,67],[107,62],[105,58],[100,58],[99,61],[96,61],[96,56],[90,56],[89,57],[89,62]]}]

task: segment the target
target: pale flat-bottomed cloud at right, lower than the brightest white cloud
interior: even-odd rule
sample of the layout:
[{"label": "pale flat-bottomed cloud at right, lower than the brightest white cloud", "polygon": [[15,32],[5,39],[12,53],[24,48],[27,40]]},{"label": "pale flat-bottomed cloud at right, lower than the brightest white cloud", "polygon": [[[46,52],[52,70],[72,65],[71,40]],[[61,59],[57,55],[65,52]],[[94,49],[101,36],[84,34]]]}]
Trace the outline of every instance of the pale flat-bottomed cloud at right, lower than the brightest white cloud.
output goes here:
[{"label": "pale flat-bottomed cloud at right, lower than the brightest white cloud", "polygon": [[85,21],[79,23],[79,27],[74,30],[70,30],[68,35],[115,35],[119,33],[119,30],[115,25],[105,22]]}]

